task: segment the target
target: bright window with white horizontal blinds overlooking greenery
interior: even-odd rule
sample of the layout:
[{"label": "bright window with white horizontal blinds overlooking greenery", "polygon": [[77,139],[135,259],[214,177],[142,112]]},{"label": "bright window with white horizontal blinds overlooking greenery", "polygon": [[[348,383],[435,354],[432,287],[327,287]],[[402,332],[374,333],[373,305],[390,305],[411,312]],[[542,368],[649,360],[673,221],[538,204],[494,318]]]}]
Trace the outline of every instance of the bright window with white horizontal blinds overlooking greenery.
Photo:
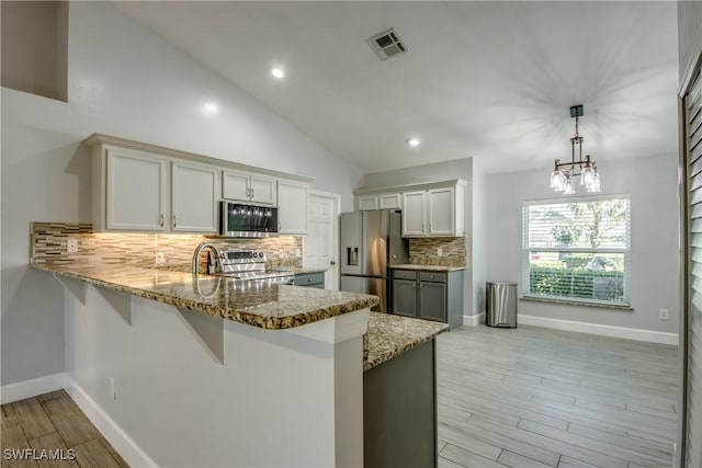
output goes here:
[{"label": "bright window with white horizontal blinds overlooking greenery", "polygon": [[627,195],[525,202],[524,296],[629,306],[630,218]]}]

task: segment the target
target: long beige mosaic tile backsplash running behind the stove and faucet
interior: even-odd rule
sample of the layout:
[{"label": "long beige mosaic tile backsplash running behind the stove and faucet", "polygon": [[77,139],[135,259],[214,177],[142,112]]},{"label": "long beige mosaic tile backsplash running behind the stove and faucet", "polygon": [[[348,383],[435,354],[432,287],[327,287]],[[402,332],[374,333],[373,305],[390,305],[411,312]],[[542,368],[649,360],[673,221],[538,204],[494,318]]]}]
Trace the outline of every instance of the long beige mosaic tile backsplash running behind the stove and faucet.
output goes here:
[{"label": "long beige mosaic tile backsplash running behind the stove and faucet", "polygon": [[[61,264],[65,267],[87,263],[118,263],[190,271],[192,254],[202,242],[263,251],[268,267],[301,267],[303,263],[303,239],[299,236],[224,240],[199,235],[93,233],[91,224],[32,222],[30,237],[30,261],[33,264]],[[76,253],[68,253],[68,238],[78,240]]]}]

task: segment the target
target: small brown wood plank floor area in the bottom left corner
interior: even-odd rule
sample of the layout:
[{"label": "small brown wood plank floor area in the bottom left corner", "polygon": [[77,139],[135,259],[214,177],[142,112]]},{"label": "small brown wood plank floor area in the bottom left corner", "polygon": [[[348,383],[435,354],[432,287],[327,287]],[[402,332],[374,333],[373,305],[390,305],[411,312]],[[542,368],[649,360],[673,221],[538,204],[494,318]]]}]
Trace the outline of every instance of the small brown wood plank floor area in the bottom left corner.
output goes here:
[{"label": "small brown wood plank floor area in the bottom left corner", "polygon": [[64,390],[2,404],[1,431],[2,467],[128,468]]}]

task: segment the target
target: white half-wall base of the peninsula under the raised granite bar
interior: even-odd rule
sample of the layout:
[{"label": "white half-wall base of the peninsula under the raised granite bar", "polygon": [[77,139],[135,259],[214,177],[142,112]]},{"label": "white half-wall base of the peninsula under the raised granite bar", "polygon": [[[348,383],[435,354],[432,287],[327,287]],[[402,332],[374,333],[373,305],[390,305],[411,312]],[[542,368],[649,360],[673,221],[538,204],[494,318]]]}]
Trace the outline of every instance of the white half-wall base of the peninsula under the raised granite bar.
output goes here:
[{"label": "white half-wall base of the peninsula under the raised granite bar", "polygon": [[185,311],[101,289],[65,289],[68,390],[129,465],[362,466],[367,308],[286,330],[202,316],[216,358]]}]

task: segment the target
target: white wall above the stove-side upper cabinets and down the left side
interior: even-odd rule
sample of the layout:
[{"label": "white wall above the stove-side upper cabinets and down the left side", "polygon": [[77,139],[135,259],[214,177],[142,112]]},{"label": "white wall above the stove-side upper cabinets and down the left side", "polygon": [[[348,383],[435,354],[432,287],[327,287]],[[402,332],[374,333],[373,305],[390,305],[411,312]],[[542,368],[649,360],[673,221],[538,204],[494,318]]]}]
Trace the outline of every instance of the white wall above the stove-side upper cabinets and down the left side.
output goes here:
[{"label": "white wall above the stove-side upper cabinets and down the left side", "polygon": [[2,385],[64,370],[63,289],[27,266],[27,232],[90,220],[90,134],[309,175],[342,210],[362,178],[111,3],[70,4],[68,53],[68,103],[2,89]]}]

